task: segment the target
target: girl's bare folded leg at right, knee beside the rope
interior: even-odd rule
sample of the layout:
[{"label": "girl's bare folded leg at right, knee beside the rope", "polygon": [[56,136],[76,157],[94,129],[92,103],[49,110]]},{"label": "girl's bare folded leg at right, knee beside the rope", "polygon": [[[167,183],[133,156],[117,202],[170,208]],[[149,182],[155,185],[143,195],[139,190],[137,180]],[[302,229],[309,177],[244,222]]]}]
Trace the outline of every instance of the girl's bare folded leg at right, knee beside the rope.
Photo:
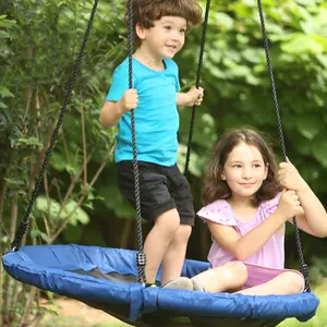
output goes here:
[{"label": "girl's bare folded leg at right, knee beside the rope", "polygon": [[296,294],[301,293],[303,289],[303,276],[296,271],[286,271],[265,283],[241,290],[237,293],[246,295]]}]

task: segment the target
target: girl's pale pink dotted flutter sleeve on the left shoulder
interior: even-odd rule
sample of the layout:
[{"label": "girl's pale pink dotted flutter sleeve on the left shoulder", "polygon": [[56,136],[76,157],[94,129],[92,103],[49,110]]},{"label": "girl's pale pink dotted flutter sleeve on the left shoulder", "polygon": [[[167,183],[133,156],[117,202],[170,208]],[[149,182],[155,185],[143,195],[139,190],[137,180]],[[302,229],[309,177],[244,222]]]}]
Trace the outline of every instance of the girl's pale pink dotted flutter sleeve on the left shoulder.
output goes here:
[{"label": "girl's pale pink dotted flutter sleeve on the left shoulder", "polygon": [[197,211],[197,216],[204,219],[204,221],[210,220],[225,226],[238,226],[229,204],[221,199],[203,207],[199,211]]}]

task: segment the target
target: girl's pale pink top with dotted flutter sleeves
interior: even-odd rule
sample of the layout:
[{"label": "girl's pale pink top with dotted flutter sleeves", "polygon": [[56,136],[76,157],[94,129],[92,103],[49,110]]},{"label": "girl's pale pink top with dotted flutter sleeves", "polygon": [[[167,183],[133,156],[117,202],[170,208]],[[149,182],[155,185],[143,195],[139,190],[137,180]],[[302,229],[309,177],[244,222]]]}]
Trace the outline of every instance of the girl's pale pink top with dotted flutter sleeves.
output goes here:
[{"label": "girl's pale pink top with dotted flutter sleeves", "polygon": [[[256,214],[249,221],[242,222],[234,216],[229,203],[225,199],[218,199],[202,208],[197,215],[204,220],[210,220],[217,223],[231,226],[240,235],[245,235],[256,226],[261,225],[271,214],[275,213],[280,194],[272,199],[262,202]],[[255,240],[253,240],[255,242]],[[284,232],[277,231],[271,239],[255,254],[246,258],[244,263],[262,267],[282,269],[284,263]],[[222,249],[214,239],[208,254],[208,261],[211,266],[218,267],[226,263],[237,261],[228,251]]]}]

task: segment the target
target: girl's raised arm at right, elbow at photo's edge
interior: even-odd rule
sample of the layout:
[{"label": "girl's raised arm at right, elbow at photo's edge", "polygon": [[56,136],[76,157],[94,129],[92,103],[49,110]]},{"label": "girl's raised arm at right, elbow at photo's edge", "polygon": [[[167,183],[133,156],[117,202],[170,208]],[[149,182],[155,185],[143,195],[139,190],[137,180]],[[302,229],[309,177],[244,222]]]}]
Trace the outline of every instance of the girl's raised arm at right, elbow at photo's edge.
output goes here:
[{"label": "girl's raised arm at right, elbow at photo's edge", "polygon": [[[279,167],[278,178],[280,184],[296,192],[304,210],[304,214],[295,216],[299,228],[312,235],[326,238],[327,214],[323,204],[290,160],[281,162]],[[289,221],[293,222],[292,219]]]}]

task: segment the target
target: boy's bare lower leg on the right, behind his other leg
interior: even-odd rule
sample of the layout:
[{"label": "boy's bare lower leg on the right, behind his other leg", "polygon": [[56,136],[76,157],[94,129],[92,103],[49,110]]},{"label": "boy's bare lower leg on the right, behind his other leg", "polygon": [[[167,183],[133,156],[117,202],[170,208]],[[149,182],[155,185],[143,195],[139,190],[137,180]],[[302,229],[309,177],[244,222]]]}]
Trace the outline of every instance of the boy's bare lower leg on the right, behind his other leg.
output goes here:
[{"label": "boy's bare lower leg on the right, behind his other leg", "polygon": [[191,231],[190,225],[180,225],[171,240],[162,261],[162,284],[181,276]]}]

